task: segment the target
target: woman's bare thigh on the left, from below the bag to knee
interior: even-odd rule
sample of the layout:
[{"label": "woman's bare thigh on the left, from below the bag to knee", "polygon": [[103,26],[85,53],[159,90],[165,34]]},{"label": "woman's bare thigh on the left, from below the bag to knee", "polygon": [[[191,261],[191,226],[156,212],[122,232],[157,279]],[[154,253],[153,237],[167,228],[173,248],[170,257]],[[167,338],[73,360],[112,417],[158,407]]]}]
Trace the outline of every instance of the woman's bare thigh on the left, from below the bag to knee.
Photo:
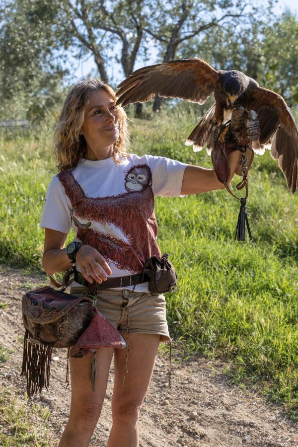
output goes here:
[{"label": "woman's bare thigh on the left, from below the bag to knee", "polygon": [[70,417],[92,415],[99,417],[104,401],[113,348],[101,348],[96,353],[95,389],[91,388],[90,370],[92,356],[70,358],[72,400]]}]

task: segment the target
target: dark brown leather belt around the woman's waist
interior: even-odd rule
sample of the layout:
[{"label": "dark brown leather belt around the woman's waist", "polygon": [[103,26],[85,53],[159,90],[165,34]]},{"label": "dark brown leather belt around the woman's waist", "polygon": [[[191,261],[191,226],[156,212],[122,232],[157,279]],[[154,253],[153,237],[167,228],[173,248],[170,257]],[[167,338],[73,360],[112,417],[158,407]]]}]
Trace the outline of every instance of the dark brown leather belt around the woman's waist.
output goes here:
[{"label": "dark brown leather belt around the woman's waist", "polygon": [[92,289],[96,286],[96,290],[98,290],[98,289],[111,289],[116,287],[135,286],[136,284],[146,283],[147,281],[149,281],[149,276],[147,275],[147,273],[142,272],[142,273],[136,273],[135,275],[108,278],[101,284],[98,284],[93,280],[93,283],[90,284],[88,283],[87,280],[85,280],[85,278],[80,272],[75,271],[74,281],[81,284],[82,286],[86,286]]}]

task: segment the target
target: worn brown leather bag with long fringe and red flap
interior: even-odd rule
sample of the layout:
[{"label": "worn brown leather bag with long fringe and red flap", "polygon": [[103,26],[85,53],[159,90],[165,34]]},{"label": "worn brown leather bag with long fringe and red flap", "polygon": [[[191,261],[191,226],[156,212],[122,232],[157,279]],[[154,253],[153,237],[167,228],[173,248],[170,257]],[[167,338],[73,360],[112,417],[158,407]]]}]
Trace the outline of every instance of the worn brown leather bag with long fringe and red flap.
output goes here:
[{"label": "worn brown leather bag with long fringe and red flap", "polygon": [[[96,349],[126,348],[120,333],[102,315],[92,298],[76,297],[42,287],[22,298],[25,326],[21,376],[27,379],[27,395],[48,389],[53,348],[69,348],[68,358],[92,354],[91,386],[94,391]],[[67,383],[68,383],[67,364]]]}]

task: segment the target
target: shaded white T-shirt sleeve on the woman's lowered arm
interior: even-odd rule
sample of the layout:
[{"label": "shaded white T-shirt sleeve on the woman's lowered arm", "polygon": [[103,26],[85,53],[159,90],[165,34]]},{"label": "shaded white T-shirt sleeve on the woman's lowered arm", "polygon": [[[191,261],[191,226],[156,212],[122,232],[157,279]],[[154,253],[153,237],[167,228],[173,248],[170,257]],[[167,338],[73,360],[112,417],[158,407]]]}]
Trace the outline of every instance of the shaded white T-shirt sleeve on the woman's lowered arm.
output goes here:
[{"label": "shaded white T-shirt sleeve on the woman's lowered arm", "polygon": [[48,187],[43,214],[39,226],[51,228],[62,233],[71,229],[71,211],[64,188],[55,175]]}]

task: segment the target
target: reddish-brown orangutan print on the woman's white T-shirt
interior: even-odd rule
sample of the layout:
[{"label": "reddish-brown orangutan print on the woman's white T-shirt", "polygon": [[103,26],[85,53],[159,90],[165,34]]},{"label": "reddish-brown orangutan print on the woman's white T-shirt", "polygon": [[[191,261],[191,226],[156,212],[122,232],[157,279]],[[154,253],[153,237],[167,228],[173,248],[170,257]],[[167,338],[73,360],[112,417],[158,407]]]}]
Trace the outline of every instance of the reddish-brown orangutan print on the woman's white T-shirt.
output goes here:
[{"label": "reddish-brown orangutan print on the woman's white T-shirt", "polygon": [[[152,175],[147,164],[132,166],[125,172],[126,193],[107,197],[86,197],[71,171],[58,174],[72,204],[72,220],[77,238],[96,248],[119,269],[140,272],[149,256],[161,256],[156,243]],[[90,221],[80,224],[79,218]],[[91,222],[114,224],[127,242],[92,229]]]}]

